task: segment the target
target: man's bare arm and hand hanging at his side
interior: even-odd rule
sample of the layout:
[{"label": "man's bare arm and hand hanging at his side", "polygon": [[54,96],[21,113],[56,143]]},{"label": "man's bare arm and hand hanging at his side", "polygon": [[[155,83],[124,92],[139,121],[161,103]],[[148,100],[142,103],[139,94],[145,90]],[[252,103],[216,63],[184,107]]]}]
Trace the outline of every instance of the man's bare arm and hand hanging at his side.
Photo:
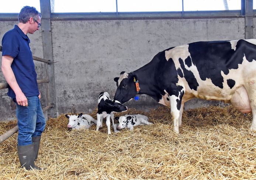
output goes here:
[{"label": "man's bare arm and hand hanging at his side", "polygon": [[13,70],[11,69],[11,63],[13,58],[11,56],[2,56],[2,72],[6,82],[9,84],[11,89],[16,95],[16,101],[18,105],[27,106],[28,100],[25,97],[24,93],[21,91],[20,86],[18,85],[16,78],[14,76]]}]

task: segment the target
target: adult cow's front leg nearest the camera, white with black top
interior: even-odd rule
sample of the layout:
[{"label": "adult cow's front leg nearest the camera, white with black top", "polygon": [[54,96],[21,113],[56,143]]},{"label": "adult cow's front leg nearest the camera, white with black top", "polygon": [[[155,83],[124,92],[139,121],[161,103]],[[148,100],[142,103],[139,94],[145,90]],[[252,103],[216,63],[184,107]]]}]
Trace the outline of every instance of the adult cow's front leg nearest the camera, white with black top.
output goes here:
[{"label": "adult cow's front leg nearest the camera, white with black top", "polygon": [[181,104],[182,104],[181,101],[184,93],[185,93],[185,88],[182,86],[177,86],[177,89],[173,89],[170,95],[171,115],[173,118],[173,130],[177,134],[179,134],[179,118],[181,114],[180,110],[181,110]]}]

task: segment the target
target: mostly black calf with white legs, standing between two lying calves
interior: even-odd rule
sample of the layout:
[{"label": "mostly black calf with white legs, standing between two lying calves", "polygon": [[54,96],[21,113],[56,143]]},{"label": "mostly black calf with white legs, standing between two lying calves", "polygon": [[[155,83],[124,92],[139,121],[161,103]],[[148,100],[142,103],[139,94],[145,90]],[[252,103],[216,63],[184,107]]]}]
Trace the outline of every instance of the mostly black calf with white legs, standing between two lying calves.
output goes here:
[{"label": "mostly black calf with white legs, standing between two lying calves", "polygon": [[112,101],[110,95],[107,92],[101,92],[98,97],[98,113],[97,113],[97,128],[102,127],[103,118],[106,118],[106,124],[108,127],[108,134],[110,132],[110,118],[112,120],[112,126],[114,128],[114,114],[115,112],[127,111],[127,107],[122,105],[119,101]]}]

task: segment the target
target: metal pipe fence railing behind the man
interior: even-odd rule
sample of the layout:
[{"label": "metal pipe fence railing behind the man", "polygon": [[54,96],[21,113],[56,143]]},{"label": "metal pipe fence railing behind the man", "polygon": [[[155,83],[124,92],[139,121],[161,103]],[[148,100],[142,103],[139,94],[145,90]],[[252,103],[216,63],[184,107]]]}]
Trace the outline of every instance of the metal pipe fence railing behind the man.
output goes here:
[{"label": "metal pipe fence railing behind the man", "polygon": [[[2,51],[2,46],[0,46],[0,51]],[[33,59],[34,60],[37,60],[37,61],[40,61],[40,62],[44,62],[44,63],[47,63],[47,64],[51,64],[51,61],[50,60],[47,60],[47,59],[42,59],[42,58],[39,58],[37,56],[33,56]],[[46,70],[46,72],[48,72]],[[46,77],[48,78],[48,75],[46,74]],[[49,79],[39,79],[37,80],[37,83],[38,84],[41,84],[41,83],[49,83],[50,80]],[[0,89],[6,89],[8,88],[8,83],[0,83]],[[49,98],[49,86],[46,87],[47,88],[47,98]],[[50,100],[48,99],[48,102],[50,102]],[[49,105],[47,105],[46,107],[44,107],[42,110],[43,112],[47,111],[49,108],[52,108],[53,107],[53,103],[50,103]],[[6,139],[10,138],[12,135],[15,134],[15,132],[18,131],[18,126],[15,126],[14,128],[10,129],[9,131],[7,131],[6,133],[4,133],[3,135],[0,136],[0,143],[4,142]]]}]

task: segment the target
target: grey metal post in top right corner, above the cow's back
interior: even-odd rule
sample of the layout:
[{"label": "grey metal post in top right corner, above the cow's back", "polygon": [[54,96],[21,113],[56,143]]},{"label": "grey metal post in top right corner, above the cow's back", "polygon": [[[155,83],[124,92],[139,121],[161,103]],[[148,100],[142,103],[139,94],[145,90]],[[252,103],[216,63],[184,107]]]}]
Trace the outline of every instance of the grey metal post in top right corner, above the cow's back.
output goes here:
[{"label": "grey metal post in top right corner, above the cow's back", "polygon": [[253,38],[253,0],[245,0],[245,39]]}]

